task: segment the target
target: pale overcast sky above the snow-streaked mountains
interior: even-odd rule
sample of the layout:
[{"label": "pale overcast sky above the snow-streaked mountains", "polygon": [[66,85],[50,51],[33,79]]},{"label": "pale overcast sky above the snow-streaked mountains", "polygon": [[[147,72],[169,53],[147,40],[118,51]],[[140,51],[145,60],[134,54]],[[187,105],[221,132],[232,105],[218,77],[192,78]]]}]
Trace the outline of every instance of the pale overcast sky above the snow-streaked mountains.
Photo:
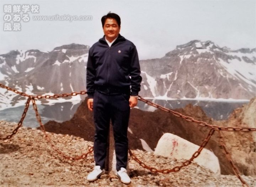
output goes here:
[{"label": "pale overcast sky above the snow-streaked mountains", "polygon": [[[4,31],[4,5],[38,5],[20,21],[21,31]],[[256,47],[255,0],[1,0],[0,54],[53,48],[70,43],[92,46],[103,36],[101,17],[121,17],[121,34],[137,46],[139,58],[161,58],[191,40],[210,40],[231,49]],[[25,14],[23,12],[20,15]],[[13,14],[11,14],[13,15]],[[33,16],[92,16],[87,21],[35,21]]]}]

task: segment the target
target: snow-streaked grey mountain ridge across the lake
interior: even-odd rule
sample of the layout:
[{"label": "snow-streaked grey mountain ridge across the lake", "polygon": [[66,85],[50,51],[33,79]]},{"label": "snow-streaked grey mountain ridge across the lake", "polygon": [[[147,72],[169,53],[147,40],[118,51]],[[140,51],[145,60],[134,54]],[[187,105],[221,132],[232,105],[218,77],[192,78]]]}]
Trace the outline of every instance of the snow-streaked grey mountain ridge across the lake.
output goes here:
[{"label": "snow-streaked grey mountain ridge across the lake", "polygon": [[[32,95],[86,90],[89,48],[71,43],[48,53],[12,50],[0,55],[0,82]],[[143,97],[250,100],[256,93],[256,48],[229,50],[212,41],[193,40],[164,57],[140,60],[140,66]],[[1,108],[25,103],[20,96],[0,93]]]}]

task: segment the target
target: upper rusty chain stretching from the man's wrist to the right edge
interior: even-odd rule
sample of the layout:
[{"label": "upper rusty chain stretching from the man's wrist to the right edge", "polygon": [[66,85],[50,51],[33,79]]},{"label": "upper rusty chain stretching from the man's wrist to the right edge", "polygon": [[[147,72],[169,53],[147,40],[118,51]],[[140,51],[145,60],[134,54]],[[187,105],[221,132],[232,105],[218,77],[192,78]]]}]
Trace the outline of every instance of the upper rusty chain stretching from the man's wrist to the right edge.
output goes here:
[{"label": "upper rusty chain stretching from the man's wrist to the right edge", "polygon": [[139,96],[138,100],[143,101],[146,104],[148,104],[150,106],[153,106],[155,108],[158,108],[158,109],[160,109],[162,111],[170,112],[170,113],[174,114],[177,117],[181,117],[181,118],[185,119],[186,121],[197,123],[197,124],[199,124],[199,125],[201,125],[203,127],[214,128],[214,130],[242,131],[242,132],[256,131],[256,128],[219,127],[219,126],[216,126],[216,125],[210,125],[210,124],[208,124],[206,122],[203,122],[203,121],[197,121],[196,119],[194,119],[192,117],[184,116],[183,114],[175,112],[175,111],[173,111],[173,110],[171,110],[169,108],[165,108],[163,106],[157,105],[156,103],[153,103],[153,102],[151,102],[149,100],[146,100],[146,99],[142,98],[141,96]]}]

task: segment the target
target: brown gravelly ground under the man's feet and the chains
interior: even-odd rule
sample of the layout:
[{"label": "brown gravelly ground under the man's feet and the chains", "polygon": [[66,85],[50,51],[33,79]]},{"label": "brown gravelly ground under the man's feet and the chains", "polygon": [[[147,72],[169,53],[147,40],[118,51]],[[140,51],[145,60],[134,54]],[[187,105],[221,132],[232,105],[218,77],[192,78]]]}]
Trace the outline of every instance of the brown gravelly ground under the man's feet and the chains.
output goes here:
[{"label": "brown gravelly ground under the man's feet and the chains", "polygon": [[[16,123],[0,121],[0,137],[5,137]],[[92,142],[73,135],[48,133],[54,144],[65,154],[77,156],[87,151]],[[155,156],[142,150],[133,150],[151,167],[172,168],[180,165],[167,157]],[[9,140],[0,141],[0,186],[241,186],[235,176],[219,175],[192,163],[179,172],[153,173],[143,169],[129,158],[132,183],[123,185],[118,178],[107,175],[95,182],[87,182],[86,176],[94,167],[93,155],[71,161],[53,151],[41,130],[21,127]],[[256,186],[256,178],[242,176],[250,186]]]}]

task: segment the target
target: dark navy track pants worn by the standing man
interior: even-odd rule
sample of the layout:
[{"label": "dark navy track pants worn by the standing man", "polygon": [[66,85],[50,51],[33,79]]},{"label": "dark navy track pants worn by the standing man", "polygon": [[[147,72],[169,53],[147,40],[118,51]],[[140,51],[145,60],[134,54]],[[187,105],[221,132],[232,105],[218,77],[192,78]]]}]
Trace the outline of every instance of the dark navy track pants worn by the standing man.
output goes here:
[{"label": "dark navy track pants worn by the standing man", "polygon": [[126,168],[128,159],[128,122],[130,116],[128,94],[106,95],[95,91],[93,100],[95,136],[94,160],[101,169],[105,167],[107,154],[107,138],[110,119],[113,124],[113,134],[116,151],[116,169]]}]

